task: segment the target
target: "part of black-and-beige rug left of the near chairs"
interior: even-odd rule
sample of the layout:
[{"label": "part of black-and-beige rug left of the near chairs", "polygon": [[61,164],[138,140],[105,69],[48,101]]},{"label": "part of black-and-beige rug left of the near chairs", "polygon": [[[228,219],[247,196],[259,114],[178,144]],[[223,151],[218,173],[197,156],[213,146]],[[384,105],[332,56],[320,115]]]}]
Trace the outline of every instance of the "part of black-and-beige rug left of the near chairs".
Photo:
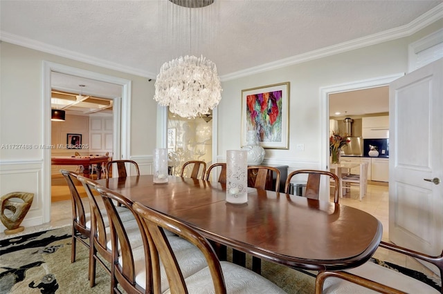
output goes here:
[{"label": "part of black-and-beige rug left of the near chairs", "polygon": [[71,227],[0,241],[0,293],[109,293],[110,277],[97,266],[89,287],[86,246],[77,245],[71,264]]}]

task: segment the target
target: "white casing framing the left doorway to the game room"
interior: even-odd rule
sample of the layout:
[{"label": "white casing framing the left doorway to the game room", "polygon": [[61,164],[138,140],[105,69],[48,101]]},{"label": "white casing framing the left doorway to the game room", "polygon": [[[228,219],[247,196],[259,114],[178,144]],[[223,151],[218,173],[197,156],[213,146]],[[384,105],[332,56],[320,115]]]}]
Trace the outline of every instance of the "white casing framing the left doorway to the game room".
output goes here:
[{"label": "white casing framing the left doorway to the game room", "polygon": [[[130,149],[130,117],[131,117],[131,81],[103,75],[98,72],[64,66],[59,63],[43,61],[43,141],[47,146],[51,145],[51,72],[60,72],[66,75],[94,79],[122,86],[122,95],[114,100],[114,139],[113,154],[115,158],[129,158]],[[121,134],[124,133],[125,136]],[[43,150],[43,174],[42,191],[48,195],[42,199],[43,223],[51,221],[51,149]]]}]

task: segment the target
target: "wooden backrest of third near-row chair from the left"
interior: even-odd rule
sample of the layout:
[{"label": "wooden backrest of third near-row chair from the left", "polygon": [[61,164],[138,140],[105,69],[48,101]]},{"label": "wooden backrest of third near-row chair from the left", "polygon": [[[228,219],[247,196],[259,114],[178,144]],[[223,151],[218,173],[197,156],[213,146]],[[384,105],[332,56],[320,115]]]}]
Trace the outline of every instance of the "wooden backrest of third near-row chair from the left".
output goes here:
[{"label": "wooden backrest of third near-row chair from the left", "polygon": [[[111,232],[111,244],[112,248],[121,248],[121,250],[113,251],[113,259],[114,259],[114,268],[111,273],[114,273],[114,277],[111,277],[111,288],[114,293],[120,293],[116,291],[117,284],[127,292],[127,293],[152,293],[152,266],[150,263],[150,253],[148,251],[149,244],[147,244],[147,236],[145,235],[145,231],[143,230],[143,226],[141,224],[141,219],[138,217],[138,214],[134,212],[132,209],[133,202],[127,199],[125,196],[120,195],[112,190],[109,190],[102,186],[96,186],[96,190],[100,193],[100,196],[105,203],[105,208],[107,210],[107,215],[110,219],[110,232]],[[145,268],[144,271],[146,273],[145,284],[140,285],[136,282],[136,266],[134,260],[134,248],[132,248],[130,238],[127,235],[127,231],[125,230],[125,225],[122,222],[118,214],[118,208],[114,204],[116,202],[119,206],[127,207],[138,224],[138,228],[140,229],[141,239],[143,240],[144,247],[144,258]],[[139,260],[141,256],[138,256]],[[121,259],[122,262],[118,262],[118,259]],[[146,260],[147,259],[147,260]],[[143,270],[142,270],[143,271]],[[156,292],[154,292],[156,293]]]}]

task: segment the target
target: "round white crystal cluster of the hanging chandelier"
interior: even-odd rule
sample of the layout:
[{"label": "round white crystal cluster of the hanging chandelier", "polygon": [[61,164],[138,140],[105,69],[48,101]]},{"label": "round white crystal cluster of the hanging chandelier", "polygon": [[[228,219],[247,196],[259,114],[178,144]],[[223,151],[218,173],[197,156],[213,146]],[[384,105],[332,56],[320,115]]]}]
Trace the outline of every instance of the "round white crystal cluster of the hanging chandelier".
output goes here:
[{"label": "round white crystal cluster of the hanging chandelier", "polygon": [[163,63],[154,100],[181,117],[199,117],[219,104],[221,91],[215,63],[202,55],[186,55]]}]

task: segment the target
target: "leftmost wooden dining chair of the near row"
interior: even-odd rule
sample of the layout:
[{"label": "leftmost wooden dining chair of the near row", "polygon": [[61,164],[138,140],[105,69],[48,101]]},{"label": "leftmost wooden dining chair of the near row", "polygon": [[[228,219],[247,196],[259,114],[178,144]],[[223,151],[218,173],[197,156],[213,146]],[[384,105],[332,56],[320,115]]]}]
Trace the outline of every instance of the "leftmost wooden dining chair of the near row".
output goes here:
[{"label": "leftmost wooden dining chair of the near row", "polygon": [[[91,246],[91,226],[90,214],[86,213],[84,209],[82,199],[78,193],[77,187],[75,187],[74,179],[77,179],[78,174],[69,170],[60,170],[66,183],[68,184],[69,191],[71,192],[71,204],[72,204],[72,237],[71,237],[71,263],[75,262],[76,244],[79,241],[84,246],[89,248]],[[86,240],[87,239],[87,240]]]}]

